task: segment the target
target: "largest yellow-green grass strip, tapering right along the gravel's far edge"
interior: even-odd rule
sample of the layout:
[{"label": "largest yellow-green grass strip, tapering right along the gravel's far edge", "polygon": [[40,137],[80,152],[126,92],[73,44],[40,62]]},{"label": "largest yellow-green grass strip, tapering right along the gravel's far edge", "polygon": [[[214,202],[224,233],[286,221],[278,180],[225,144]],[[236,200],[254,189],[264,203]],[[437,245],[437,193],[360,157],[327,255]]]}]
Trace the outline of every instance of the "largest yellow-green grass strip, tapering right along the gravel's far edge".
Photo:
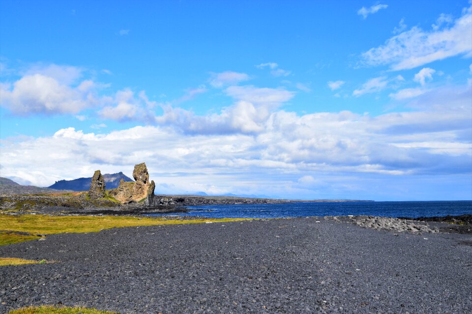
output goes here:
[{"label": "largest yellow-green grass strip, tapering right along the gravel's far edge", "polygon": [[99,232],[116,227],[137,227],[153,225],[192,224],[205,222],[227,222],[252,220],[250,218],[218,219],[165,219],[128,216],[49,216],[49,215],[7,215],[0,214],[0,230],[21,231],[32,235],[0,233],[0,244],[12,244],[37,239],[36,234]]}]

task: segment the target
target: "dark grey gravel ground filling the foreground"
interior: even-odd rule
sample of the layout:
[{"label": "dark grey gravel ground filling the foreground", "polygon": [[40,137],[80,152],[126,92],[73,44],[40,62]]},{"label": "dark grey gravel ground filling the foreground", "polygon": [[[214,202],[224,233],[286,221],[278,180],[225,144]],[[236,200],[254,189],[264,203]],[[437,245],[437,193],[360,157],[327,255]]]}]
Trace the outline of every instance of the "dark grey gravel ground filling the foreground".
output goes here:
[{"label": "dark grey gravel ground filling the foreground", "polygon": [[0,313],[472,313],[472,238],[323,218],[117,228],[0,247]]}]

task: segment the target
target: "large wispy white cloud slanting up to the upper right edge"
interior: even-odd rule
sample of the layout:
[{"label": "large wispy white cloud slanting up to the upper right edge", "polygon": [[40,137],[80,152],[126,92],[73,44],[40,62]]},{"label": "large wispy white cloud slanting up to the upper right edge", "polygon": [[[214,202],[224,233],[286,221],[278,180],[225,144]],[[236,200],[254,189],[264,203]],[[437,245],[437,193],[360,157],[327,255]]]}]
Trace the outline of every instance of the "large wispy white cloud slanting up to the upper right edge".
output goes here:
[{"label": "large wispy white cloud slanting up to the upper right edge", "polygon": [[390,69],[405,70],[456,55],[472,55],[472,9],[450,27],[424,31],[419,27],[402,32],[385,41],[383,46],[362,53],[367,65],[390,65]]}]

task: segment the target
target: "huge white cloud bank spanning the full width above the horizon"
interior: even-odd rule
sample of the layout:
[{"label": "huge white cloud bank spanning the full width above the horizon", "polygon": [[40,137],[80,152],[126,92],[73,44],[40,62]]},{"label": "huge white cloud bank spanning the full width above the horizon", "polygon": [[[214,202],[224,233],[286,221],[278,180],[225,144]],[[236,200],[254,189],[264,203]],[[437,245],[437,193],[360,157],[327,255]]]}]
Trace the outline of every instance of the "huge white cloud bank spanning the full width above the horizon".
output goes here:
[{"label": "huge white cloud bank spanning the full width above the horizon", "polygon": [[[368,174],[376,174],[375,184],[384,178],[383,187],[390,188],[395,177],[419,183],[415,174],[438,179],[442,173],[471,172],[471,86],[427,91],[415,98],[413,110],[379,116],[349,111],[298,115],[277,108],[261,115],[264,103],[240,99],[261,101],[253,94],[266,91],[246,92],[250,96],[236,93],[235,105],[219,115],[188,115],[184,125],[201,126],[195,133],[182,132],[180,116],[163,126],[104,134],[66,128],[54,136],[2,140],[1,174],[44,186],[88,177],[96,169],[131,174],[134,164],[146,161],[151,178],[168,193],[314,198],[320,188],[347,195]],[[288,98],[269,97],[269,102]],[[233,129],[205,132],[215,123]]]}]

